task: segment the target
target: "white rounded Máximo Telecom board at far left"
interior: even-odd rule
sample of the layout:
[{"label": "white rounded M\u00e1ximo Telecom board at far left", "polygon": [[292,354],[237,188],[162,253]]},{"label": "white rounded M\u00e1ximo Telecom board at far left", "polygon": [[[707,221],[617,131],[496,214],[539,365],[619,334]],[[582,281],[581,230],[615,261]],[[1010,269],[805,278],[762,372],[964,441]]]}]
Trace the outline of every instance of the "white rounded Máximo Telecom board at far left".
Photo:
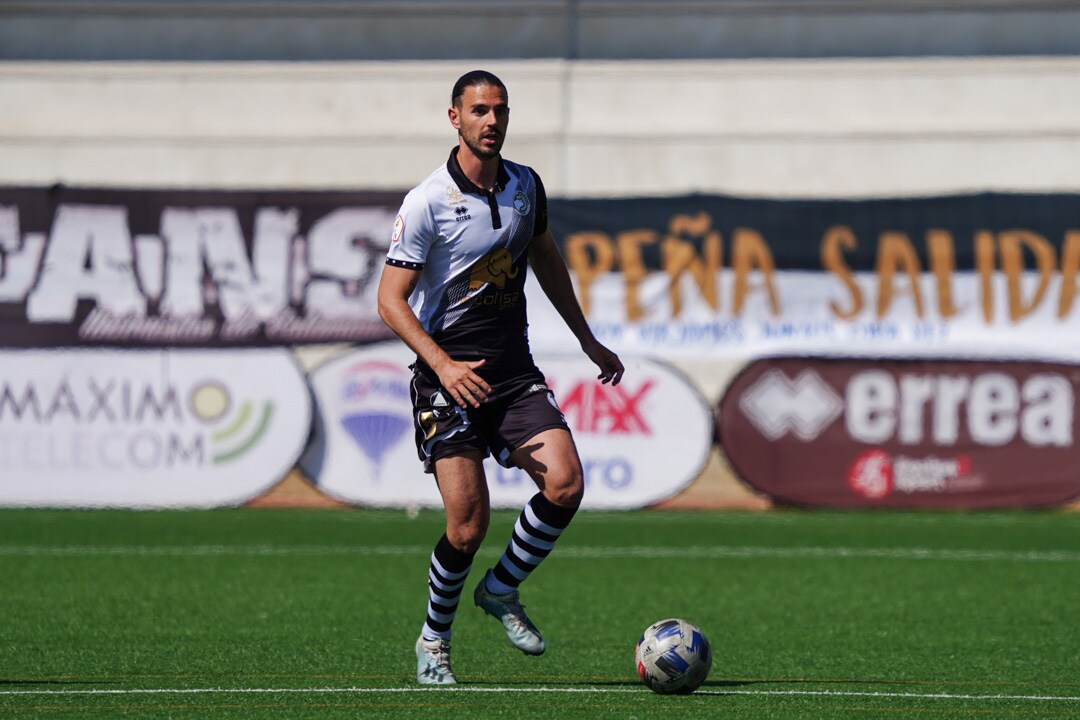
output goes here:
[{"label": "white rounded M\u00e1ximo Telecom board at far left", "polygon": [[8,350],[0,366],[0,505],[239,504],[310,432],[287,350]]}]

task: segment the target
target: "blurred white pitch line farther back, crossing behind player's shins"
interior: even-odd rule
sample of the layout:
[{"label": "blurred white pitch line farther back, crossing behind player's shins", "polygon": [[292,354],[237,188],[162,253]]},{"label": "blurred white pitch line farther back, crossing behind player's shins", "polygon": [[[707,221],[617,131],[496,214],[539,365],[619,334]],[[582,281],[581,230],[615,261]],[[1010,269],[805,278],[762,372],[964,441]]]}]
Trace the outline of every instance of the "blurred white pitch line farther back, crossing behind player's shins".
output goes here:
[{"label": "blurred white pitch line farther back, crossing behind player's shins", "polygon": [[[497,556],[499,549],[482,551],[482,555]],[[426,545],[0,545],[0,557],[365,557],[410,556],[427,557],[431,547]],[[977,551],[933,547],[761,547],[741,545],[691,545],[688,547],[657,546],[580,546],[559,547],[561,558],[618,559],[618,558],[672,558],[672,559],[881,559],[881,560],[940,560],[959,562],[1080,562],[1076,551]]]}]

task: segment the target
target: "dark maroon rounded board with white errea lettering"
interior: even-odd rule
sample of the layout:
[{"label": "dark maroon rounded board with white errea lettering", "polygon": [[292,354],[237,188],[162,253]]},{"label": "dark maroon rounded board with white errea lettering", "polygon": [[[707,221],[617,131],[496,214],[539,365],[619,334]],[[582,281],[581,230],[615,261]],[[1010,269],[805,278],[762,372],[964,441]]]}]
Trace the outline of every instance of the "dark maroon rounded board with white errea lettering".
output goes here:
[{"label": "dark maroon rounded board with white errea lettering", "polygon": [[785,357],[751,364],[717,423],[742,478],[831,507],[1027,507],[1080,495],[1080,369]]}]

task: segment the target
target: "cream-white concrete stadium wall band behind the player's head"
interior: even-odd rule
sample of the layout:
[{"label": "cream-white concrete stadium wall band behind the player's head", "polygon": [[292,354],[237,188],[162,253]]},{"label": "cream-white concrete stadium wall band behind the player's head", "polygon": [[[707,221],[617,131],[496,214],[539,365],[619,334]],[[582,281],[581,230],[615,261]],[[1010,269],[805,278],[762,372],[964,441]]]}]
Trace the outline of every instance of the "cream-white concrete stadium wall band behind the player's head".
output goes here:
[{"label": "cream-white concrete stadium wall band behind the player's head", "polygon": [[553,196],[1080,188],[1077,57],[2,63],[0,184],[408,188],[477,66]]}]

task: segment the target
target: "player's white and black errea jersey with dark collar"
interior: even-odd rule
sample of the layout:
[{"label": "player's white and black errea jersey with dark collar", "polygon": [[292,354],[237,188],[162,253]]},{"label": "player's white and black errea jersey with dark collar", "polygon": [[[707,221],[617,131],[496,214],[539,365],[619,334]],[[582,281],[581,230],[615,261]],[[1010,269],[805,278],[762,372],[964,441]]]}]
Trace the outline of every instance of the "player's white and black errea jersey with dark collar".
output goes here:
[{"label": "player's white and black errea jersey with dark collar", "polygon": [[532,366],[525,277],[532,237],[548,229],[537,174],[502,160],[492,191],[464,176],[457,151],[405,196],[387,263],[420,271],[409,305],[455,359],[487,359],[485,379]]}]

